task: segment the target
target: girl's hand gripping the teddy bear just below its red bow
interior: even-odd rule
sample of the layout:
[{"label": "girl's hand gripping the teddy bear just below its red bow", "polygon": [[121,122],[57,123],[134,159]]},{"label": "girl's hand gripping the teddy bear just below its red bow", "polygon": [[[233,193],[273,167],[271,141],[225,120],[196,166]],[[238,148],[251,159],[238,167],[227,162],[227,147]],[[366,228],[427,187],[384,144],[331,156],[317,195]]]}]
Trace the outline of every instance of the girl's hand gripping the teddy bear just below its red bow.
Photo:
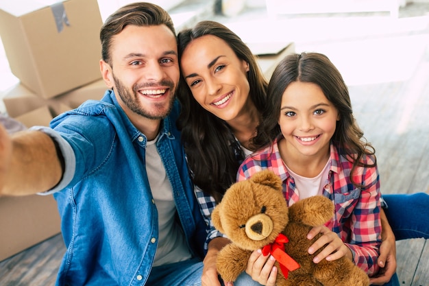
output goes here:
[{"label": "girl's hand gripping the teddy bear just below its red bow", "polygon": [[260,285],[275,286],[278,269],[274,263],[274,257],[264,256],[260,249],[255,250],[247,261],[246,273]]}]

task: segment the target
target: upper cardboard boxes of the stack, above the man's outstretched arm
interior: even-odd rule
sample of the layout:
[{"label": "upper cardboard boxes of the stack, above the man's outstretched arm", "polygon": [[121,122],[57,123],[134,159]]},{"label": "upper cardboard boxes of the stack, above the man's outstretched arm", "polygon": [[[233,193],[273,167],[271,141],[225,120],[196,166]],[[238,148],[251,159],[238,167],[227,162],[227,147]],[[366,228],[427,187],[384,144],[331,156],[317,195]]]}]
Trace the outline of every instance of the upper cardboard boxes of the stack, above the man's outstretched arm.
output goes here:
[{"label": "upper cardboard boxes of the stack, above the man's outstretched arm", "polygon": [[0,36],[20,80],[5,91],[8,115],[29,119],[23,121],[29,127],[39,125],[37,117],[50,121],[86,99],[101,98],[101,25],[97,0],[2,1]]}]

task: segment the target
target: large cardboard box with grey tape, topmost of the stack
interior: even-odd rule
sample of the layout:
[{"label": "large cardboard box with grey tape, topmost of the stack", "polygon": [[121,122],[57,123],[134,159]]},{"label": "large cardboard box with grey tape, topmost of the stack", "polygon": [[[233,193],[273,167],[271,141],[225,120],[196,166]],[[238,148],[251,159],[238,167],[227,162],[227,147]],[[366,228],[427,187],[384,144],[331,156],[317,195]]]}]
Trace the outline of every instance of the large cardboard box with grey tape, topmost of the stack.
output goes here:
[{"label": "large cardboard box with grey tape, topmost of the stack", "polygon": [[97,0],[47,2],[1,1],[0,36],[12,73],[51,98],[101,78],[103,23]]}]

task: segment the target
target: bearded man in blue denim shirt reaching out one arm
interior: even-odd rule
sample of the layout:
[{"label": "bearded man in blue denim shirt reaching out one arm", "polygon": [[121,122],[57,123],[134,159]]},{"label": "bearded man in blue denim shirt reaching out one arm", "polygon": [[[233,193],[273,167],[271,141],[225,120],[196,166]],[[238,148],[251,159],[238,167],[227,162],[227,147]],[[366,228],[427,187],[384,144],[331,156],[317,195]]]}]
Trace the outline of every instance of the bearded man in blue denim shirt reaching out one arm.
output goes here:
[{"label": "bearded man in blue denim shirt reaching out one arm", "polygon": [[110,89],[52,129],[0,126],[0,194],[53,193],[67,248],[57,285],[201,285],[206,223],[175,128],[173,23],[134,3],[100,36]]}]

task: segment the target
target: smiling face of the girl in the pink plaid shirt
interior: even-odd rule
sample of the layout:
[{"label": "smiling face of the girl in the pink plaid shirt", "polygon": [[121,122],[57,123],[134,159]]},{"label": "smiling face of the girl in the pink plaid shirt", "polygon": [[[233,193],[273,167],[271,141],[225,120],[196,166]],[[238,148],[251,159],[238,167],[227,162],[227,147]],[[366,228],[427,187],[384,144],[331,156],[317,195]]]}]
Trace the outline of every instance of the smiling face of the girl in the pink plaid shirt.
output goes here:
[{"label": "smiling face of the girl in the pink plaid shirt", "polygon": [[278,123],[288,154],[315,158],[329,154],[338,120],[338,110],[317,84],[292,82],[284,90]]}]

